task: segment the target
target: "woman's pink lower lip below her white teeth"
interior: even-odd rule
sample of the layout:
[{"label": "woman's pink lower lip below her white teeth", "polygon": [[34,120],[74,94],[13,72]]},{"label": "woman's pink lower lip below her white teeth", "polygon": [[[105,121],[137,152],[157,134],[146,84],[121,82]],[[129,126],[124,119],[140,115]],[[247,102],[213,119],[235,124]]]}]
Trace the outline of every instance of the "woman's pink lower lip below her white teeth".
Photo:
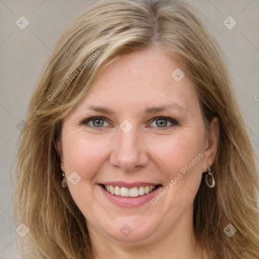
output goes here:
[{"label": "woman's pink lower lip below her white teeth", "polygon": [[154,191],[148,194],[144,194],[138,197],[129,197],[129,198],[123,198],[120,196],[116,196],[114,194],[111,194],[107,192],[102,185],[99,184],[99,187],[101,188],[103,194],[106,196],[108,200],[110,200],[112,203],[120,206],[120,207],[138,207],[143,205],[146,202],[149,202],[152,198],[154,198],[157,193],[160,191],[162,186],[158,186]]}]

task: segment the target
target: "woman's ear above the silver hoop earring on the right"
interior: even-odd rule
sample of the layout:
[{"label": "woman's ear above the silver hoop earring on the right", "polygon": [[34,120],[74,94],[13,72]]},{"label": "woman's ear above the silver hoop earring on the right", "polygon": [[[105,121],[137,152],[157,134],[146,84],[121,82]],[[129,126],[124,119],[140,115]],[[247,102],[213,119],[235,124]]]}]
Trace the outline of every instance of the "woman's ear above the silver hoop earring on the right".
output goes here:
[{"label": "woman's ear above the silver hoop earring on the right", "polygon": [[218,117],[214,117],[209,126],[204,145],[204,159],[203,159],[203,172],[208,170],[215,160],[215,155],[218,150],[218,140],[220,133],[220,122]]}]

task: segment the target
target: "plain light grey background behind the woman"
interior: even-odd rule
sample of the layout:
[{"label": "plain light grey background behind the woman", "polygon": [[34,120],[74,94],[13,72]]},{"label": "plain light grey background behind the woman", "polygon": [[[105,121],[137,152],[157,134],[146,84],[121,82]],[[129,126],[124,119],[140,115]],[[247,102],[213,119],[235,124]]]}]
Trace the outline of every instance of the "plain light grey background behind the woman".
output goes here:
[{"label": "plain light grey background behind the woman", "polygon": [[[32,90],[55,42],[87,2],[0,0],[0,258],[10,259],[17,254],[18,226],[12,219],[14,190],[9,179],[20,133],[17,124],[25,119]],[[242,116],[259,157],[259,1],[188,2],[203,13],[203,22],[225,53]],[[21,16],[29,21],[24,30],[16,25]],[[223,23],[229,16],[237,22],[231,30]]]}]

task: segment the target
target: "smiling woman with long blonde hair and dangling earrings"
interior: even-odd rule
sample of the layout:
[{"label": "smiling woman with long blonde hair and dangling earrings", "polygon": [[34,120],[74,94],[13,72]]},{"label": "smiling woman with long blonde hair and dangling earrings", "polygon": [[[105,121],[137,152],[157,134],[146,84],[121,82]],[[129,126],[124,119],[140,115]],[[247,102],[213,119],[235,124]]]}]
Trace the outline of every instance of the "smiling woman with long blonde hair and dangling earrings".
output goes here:
[{"label": "smiling woman with long blonde hair and dangling earrings", "polygon": [[188,4],[95,1],[53,53],[17,155],[24,258],[259,257],[254,152]]}]

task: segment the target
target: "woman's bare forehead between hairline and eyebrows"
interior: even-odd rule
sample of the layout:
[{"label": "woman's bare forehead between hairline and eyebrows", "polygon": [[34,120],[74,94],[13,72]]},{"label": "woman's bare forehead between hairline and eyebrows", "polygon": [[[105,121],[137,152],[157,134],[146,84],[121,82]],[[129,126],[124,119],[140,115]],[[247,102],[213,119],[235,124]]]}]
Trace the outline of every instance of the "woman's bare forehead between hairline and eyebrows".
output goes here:
[{"label": "woman's bare forehead between hairline and eyebrows", "polygon": [[119,57],[104,69],[75,109],[99,105],[122,111],[172,103],[187,110],[194,108],[198,102],[194,84],[187,76],[176,80],[174,71],[183,76],[176,62],[157,50]]}]

